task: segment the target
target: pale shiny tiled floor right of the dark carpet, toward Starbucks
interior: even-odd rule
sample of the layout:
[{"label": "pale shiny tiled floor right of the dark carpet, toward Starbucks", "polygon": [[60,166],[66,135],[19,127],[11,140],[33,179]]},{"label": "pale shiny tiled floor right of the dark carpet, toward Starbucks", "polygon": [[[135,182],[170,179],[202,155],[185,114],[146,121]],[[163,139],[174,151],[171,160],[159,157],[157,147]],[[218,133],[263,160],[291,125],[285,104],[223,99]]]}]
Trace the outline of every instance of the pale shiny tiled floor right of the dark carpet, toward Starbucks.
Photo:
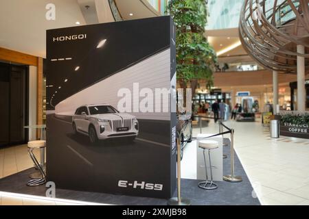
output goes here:
[{"label": "pale shiny tiled floor right of the dark carpet, toward Starbucks", "polygon": [[[309,205],[309,140],[270,138],[258,122],[225,124],[235,129],[236,153],[263,205]],[[217,133],[218,125],[203,132]]]}]

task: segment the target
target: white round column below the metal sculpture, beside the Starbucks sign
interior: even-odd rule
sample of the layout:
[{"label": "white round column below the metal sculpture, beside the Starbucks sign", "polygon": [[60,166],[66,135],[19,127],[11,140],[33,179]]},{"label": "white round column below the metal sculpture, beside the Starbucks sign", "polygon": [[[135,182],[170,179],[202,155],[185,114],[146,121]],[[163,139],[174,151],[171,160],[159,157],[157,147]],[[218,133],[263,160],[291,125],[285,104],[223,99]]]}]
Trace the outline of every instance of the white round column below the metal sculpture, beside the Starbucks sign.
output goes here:
[{"label": "white round column below the metal sculpture, beside the Starbucks sign", "polygon": [[[297,46],[297,53],[304,54],[305,47]],[[306,110],[306,87],[305,87],[305,57],[297,56],[297,110]]]}]

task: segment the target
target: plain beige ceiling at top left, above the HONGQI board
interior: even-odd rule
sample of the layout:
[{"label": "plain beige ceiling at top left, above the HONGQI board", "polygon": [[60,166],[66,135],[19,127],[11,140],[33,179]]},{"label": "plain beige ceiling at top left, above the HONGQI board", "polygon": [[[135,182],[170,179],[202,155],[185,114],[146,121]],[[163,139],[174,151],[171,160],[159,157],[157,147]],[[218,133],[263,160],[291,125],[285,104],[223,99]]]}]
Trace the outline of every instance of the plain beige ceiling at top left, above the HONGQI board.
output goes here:
[{"label": "plain beige ceiling at top left, above the HONGQI board", "polygon": [[[48,3],[56,5],[56,20],[47,21]],[[0,3],[0,47],[45,57],[45,31],[71,27],[84,16],[76,0],[10,0]],[[3,22],[5,21],[5,22]]]}]

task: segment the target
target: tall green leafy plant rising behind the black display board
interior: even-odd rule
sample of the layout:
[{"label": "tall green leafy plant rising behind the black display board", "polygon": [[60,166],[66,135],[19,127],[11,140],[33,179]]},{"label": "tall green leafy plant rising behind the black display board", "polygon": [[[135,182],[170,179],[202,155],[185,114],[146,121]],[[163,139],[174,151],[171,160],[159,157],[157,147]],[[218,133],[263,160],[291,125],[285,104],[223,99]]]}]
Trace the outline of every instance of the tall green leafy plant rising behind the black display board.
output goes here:
[{"label": "tall green leafy plant rising behind the black display board", "polygon": [[171,0],[168,13],[176,25],[177,77],[185,82],[207,79],[212,86],[216,53],[204,36],[207,24],[205,0]]}]

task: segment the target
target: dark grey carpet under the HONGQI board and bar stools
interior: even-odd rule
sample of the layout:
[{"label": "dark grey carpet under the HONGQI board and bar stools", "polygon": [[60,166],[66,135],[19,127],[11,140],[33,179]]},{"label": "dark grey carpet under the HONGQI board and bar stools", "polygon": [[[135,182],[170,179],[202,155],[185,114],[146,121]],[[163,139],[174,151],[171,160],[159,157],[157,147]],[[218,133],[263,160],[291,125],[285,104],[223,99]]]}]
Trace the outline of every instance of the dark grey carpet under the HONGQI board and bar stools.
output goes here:
[{"label": "dark grey carpet under the HONGQI board and bar stools", "polygon": [[[225,143],[230,145],[228,139],[225,139]],[[195,146],[195,144],[191,144],[191,146]],[[227,155],[227,159],[223,160],[223,173],[227,175],[231,171],[230,146],[223,147],[223,153]],[[189,198],[192,205],[260,205],[258,198],[253,198],[252,196],[253,188],[237,155],[235,155],[234,160],[236,175],[240,175],[243,179],[241,183],[217,182],[218,189],[206,191],[198,188],[198,180],[182,179],[182,196]],[[28,187],[26,185],[29,180],[28,176],[33,171],[33,168],[31,168],[0,179],[0,191],[45,196],[45,185],[36,187]],[[166,205],[167,203],[165,199],[159,198],[142,198],[60,189],[56,189],[56,197],[111,205]]]}]

